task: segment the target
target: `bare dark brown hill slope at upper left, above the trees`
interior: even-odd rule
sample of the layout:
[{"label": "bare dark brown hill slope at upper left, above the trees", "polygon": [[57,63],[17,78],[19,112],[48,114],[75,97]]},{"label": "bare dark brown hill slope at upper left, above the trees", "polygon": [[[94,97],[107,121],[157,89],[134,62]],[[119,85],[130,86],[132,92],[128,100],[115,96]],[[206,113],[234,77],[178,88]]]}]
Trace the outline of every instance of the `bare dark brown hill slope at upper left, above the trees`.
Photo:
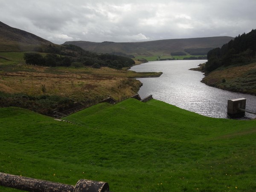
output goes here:
[{"label": "bare dark brown hill slope at upper left, above the trees", "polygon": [[32,51],[53,44],[32,33],[13,28],[0,22],[1,51]]}]

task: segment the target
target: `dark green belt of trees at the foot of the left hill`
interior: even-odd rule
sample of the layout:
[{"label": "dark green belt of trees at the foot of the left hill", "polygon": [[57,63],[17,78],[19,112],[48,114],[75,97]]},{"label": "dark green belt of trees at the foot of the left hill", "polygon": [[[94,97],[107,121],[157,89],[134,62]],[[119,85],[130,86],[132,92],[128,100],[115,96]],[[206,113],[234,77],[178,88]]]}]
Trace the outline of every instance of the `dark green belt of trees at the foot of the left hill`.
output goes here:
[{"label": "dark green belt of trees at the foot of the left hill", "polygon": [[115,69],[122,69],[122,67],[130,67],[135,64],[134,60],[125,56],[98,54],[75,45],[55,46],[50,44],[45,50],[37,49],[35,51],[37,52],[24,53],[26,64],[47,67],[91,66],[94,68],[111,67]]}]

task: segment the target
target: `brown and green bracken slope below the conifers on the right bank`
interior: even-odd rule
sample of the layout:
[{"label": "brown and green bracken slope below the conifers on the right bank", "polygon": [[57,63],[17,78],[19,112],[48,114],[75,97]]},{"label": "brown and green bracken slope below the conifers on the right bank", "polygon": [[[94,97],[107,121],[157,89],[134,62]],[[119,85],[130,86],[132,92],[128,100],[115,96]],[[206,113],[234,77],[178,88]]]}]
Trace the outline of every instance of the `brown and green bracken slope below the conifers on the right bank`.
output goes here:
[{"label": "brown and green bracken slope below the conifers on the right bank", "polygon": [[256,62],[213,71],[202,82],[225,90],[256,95]]}]

